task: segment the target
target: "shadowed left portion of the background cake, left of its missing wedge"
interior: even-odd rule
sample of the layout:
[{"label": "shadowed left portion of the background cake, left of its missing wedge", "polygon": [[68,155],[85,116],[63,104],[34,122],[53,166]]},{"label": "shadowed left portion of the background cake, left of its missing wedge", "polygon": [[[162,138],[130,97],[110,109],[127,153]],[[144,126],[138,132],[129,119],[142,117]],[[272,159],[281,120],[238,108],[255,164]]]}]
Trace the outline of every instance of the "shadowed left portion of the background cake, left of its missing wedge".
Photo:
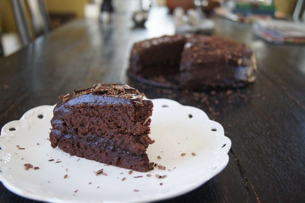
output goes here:
[{"label": "shadowed left portion of the background cake, left of its missing wedge", "polygon": [[142,77],[179,72],[183,35],[162,36],[135,43],[130,56],[129,71]]}]

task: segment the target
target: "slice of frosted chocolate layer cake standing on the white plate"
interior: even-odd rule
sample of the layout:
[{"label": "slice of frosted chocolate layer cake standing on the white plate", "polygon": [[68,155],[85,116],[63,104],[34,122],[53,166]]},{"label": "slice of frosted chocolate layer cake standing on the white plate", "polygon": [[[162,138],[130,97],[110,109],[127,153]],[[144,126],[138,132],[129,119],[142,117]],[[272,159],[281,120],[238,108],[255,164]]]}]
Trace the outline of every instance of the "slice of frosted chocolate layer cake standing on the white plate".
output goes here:
[{"label": "slice of frosted chocolate layer cake standing on the white plate", "polygon": [[149,118],[152,101],[124,84],[98,84],[60,96],[51,120],[53,148],[145,172],[152,170],[146,148],[154,143]]}]

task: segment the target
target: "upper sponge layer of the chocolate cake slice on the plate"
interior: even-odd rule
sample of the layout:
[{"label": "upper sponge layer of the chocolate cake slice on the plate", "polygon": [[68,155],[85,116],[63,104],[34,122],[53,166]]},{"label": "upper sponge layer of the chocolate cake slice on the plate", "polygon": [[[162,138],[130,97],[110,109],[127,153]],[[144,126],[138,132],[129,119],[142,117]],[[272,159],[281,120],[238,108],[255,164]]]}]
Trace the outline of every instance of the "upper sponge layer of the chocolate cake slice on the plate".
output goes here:
[{"label": "upper sponge layer of the chocolate cake slice on the plate", "polygon": [[[83,95],[82,97],[90,97]],[[107,96],[101,98],[106,99]],[[72,100],[71,100],[72,102]],[[96,136],[114,136],[116,134],[149,134],[152,104],[71,104],[67,102],[61,108],[54,109],[51,124],[55,129],[63,129],[75,135],[94,134]],[[144,125],[143,125],[144,124]]]}]

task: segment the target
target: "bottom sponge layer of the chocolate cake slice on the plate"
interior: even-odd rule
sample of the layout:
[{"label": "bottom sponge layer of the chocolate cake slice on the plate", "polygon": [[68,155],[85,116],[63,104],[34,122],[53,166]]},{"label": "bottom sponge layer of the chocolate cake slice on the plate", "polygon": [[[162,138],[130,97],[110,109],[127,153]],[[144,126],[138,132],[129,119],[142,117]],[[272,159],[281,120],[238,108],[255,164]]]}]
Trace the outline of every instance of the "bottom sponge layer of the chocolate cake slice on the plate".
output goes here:
[{"label": "bottom sponge layer of the chocolate cake slice on the plate", "polygon": [[74,135],[64,135],[58,140],[58,147],[69,153],[71,156],[95,160],[100,163],[131,169],[139,172],[152,170],[153,163],[149,162],[146,153],[135,155],[128,150],[117,148],[103,148],[103,141],[100,137],[77,138]]}]

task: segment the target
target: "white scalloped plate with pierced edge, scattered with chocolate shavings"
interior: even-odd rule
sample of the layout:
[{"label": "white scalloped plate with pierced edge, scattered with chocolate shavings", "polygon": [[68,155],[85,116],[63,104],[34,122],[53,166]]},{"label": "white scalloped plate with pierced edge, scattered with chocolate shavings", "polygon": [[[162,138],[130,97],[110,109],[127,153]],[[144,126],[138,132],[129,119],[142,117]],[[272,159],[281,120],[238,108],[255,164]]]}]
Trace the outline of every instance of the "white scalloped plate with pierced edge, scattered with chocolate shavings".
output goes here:
[{"label": "white scalloped plate with pierced edge, scattered with chocolate shavings", "polygon": [[[54,106],[40,106],[27,111],[19,121],[3,126],[0,136],[1,182],[20,196],[40,201],[150,202],[194,190],[224,169],[229,160],[227,153],[231,140],[224,136],[219,123],[211,121],[195,107],[182,106],[168,99],[152,101],[154,111],[150,137],[156,142],[147,153],[150,161],[166,166],[166,170],[155,168],[129,175],[127,169],[104,166],[84,158],[77,161],[78,157],[53,149],[47,138]],[[38,115],[43,115],[43,118],[38,118]],[[10,131],[12,128],[16,130]],[[17,149],[16,145],[25,149]],[[192,152],[196,156],[192,156]],[[186,155],[181,156],[181,153]],[[48,161],[51,158],[62,162]],[[25,170],[25,163],[40,169]],[[101,168],[108,176],[94,174],[93,171]],[[65,174],[68,174],[66,179],[63,178]],[[167,177],[158,179],[155,174]],[[121,180],[123,177],[126,177],[124,181]]]}]

